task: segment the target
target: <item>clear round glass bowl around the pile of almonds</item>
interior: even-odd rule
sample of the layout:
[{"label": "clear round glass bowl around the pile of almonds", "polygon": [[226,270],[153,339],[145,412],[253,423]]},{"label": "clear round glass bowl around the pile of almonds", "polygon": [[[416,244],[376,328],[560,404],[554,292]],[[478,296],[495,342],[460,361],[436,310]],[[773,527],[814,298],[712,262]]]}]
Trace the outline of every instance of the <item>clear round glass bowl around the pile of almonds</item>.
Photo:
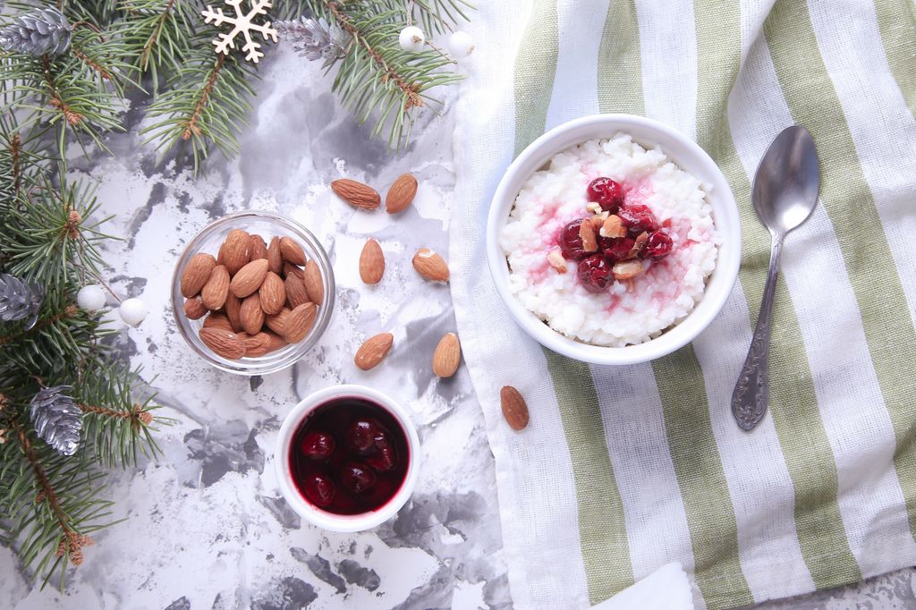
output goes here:
[{"label": "clear round glass bowl around the pile of almonds", "polygon": [[[200,320],[190,320],[185,316],[183,308],[184,297],[181,295],[180,287],[184,268],[188,265],[188,261],[191,260],[191,256],[199,252],[216,256],[220,245],[225,241],[226,235],[233,229],[242,229],[251,234],[259,234],[267,243],[274,236],[292,237],[305,250],[306,256],[314,260],[318,265],[324,282],[324,300],[318,308],[318,315],[311,327],[311,331],[300,343],[289,343],[263,356],[245,356],[238,360],[231,360],[214,353],[201,341],[198,332],[203,326],[205,316]],[[241,212],[224,216],[218,221],[208,224],[185,248],[178,264],[175,266],[175,274],[172,277],[172,311],[175,314],[175,322],[181,336],[191,345],[191,349],[208,363],[235,375],[267,375],[267,373],[276,373],[294,365],[311,350],[315,343],[318,343],[331,321],[334,309],[334,292],[331,261],[328,260],[327,253],[315,235],[311,234],[311,231],[300,223],[272,212]]]}]

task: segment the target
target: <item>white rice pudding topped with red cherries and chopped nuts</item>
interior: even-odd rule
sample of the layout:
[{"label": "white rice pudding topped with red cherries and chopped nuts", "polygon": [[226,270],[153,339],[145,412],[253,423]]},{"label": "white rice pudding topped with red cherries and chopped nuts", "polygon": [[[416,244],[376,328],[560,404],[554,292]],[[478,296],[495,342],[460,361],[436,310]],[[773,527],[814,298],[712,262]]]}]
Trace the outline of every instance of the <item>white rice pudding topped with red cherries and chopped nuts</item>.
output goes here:
[{"label": "white rice pudding topped with red cherries and chopped nuts", "polygon": [[710,188],[624,133],[557,153],[499,235],[510,292],[583,343],[659,336],[703,298],[715,267]]}]

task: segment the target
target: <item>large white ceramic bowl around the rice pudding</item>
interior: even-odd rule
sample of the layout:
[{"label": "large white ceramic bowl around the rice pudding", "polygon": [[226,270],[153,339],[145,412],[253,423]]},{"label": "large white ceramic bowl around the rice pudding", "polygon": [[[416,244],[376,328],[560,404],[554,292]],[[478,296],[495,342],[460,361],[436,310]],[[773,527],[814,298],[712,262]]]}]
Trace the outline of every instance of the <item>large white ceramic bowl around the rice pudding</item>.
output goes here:
[{"label": "large white ceramic bowl around the rice pudding", "polygon": [[[712,185],[708,195],[722,245],[715,270],[707,280],[703,299],[676,326],[646,343],[626,347],[601,347],[574,341],[551,329],[509,292],[506,254],[499,246],[518,191],[531,174],[544,167],[556,153],[587,140],[610,137],[617,132],[633,136],[643,147],[661,150],[685,171]],[[713,321],[735,285],[741,262],[741,227],[735,197],[722,171],[689,137],[668,125],[633,114],[594,114],[551,129],[525,148],[506,170],[496,187],[486,224],[486,256],[499,295],[512,317],[536,341],[558,354],[596,365],[632,365],[648,362],[690,343]]]}]

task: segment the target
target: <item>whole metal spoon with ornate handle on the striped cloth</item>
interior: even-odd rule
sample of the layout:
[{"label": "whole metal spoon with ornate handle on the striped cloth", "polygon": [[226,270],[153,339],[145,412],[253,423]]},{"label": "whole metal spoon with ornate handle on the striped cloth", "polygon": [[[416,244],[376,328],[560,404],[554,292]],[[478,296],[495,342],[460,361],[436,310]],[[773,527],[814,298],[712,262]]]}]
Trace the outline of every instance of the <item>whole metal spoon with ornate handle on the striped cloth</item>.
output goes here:
[{"label": "whole metal spoon with ornate handle on the striped cloth", "polygon": [[741,430],[754,430],[769,405],[769,327],[782,241],[814,211],[820,188],[814,139],[801,125],[787,127],[769,145],[754,177],[754,210],[773,242],[754,338],[732,394],[732,413]]}]

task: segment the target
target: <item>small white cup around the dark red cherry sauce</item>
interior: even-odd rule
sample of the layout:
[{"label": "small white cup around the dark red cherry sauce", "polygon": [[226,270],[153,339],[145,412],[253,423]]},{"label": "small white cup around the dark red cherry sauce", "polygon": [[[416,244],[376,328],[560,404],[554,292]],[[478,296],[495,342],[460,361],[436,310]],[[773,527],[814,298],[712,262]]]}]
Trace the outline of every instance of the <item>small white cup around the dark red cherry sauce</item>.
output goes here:
[{"label": "small white cup around the dark red cherry sauce", "polygon": [[[289,446],[296,432],[300,430],[305,420],[309,419],[312,411],[339,398],[365,398],[387,409],[388,413],[398,420],[408,442],[407,474],[404,476],[404,483],[401,484],[398,493],[392,496],[382,507],[359,515],[337,515],[312,505],[302,497],[300,491],[296,488],[292,478],[292,469],[289,466]],[[410,494],[413,493],[413,487],[417,483],[417,474],[420,470],[420,437],[417,436],[417,429],[410,420],[409,413],[392,398],[388,398],[378,390],[364,386],[325,387],[311,394],[308,398],[304,398],[289,411],[289,415],[283,420],[283,425],[280,426],[277,449],[274,452],[274,462],[276,463],[280,492],[286,498],[289,506],[299,513],[302,518],[319,528],[330,529],[331,531],[362,531],[375,528],[382,522],[387,521],[387,519],[397,515],[398,510],[404,506]]]}]

